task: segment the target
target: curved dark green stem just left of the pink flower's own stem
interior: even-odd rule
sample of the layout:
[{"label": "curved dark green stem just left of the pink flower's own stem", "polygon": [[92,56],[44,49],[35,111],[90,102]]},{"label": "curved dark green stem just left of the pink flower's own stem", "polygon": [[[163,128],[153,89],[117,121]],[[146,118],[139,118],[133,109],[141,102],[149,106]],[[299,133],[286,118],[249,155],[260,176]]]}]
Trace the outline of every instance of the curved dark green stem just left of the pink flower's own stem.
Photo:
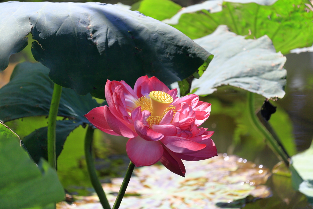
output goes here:
[{"label": "curved dark green stem just left of the pink flower's own stem", "polygon": [[85,158],[87,163],[87,170],[89,173],[90,181],[92,186],[94,187],[100,203],[104,209],[111,209],[109,201],[106,199],[103,188],[100,184],[100,181],[97,177],[97,173],[95,170],[95,163],[92,157],[92,141],[94,136],[94,129],[91,126],[88,126],[86,136],[85,136]]}]

